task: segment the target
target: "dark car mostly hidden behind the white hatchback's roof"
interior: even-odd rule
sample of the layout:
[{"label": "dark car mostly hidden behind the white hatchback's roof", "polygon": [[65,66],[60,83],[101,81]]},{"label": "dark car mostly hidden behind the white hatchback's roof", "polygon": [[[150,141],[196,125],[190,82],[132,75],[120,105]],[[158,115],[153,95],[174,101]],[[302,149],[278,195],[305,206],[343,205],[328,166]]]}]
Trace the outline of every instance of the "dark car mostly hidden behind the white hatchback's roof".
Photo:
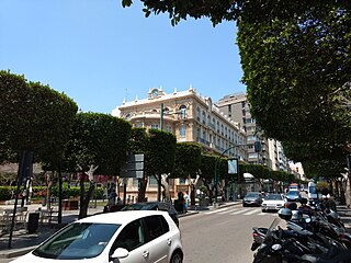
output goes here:
[{"label": "dark car mostly hidden behind the white hatchback's roof", "polygon": [[171,203],[167,202],[139,202],[135,204],[129,204],[123,207],[121,210],[165,210],[168,211],[170,217],[176,222],[177,227],[179,227],[178,211]]}]

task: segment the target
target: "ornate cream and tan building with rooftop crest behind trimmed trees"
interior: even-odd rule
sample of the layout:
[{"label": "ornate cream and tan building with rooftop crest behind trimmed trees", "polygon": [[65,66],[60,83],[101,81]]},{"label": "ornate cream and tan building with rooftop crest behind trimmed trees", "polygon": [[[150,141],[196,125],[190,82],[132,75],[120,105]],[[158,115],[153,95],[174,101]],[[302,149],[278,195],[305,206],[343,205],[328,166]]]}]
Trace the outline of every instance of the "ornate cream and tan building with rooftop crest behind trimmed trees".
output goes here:
[{"label": "ornate cream and tan building with rooftop crest behind trimmed trees", "polygon": [[[247,148],[236,147],[247,144],[242,125],[220,112],[211,98],[200,95],[192,87],[172,93],[152,88],[146,99],[124,101],[114,112],[134,127],[163,129],[174,134],[178,142],[200,144],[206,153],[220,155],[227,150],[228,157],[248,161]],[[174,180],[172,184],[177,193],[178,190],[184,191],[186,187],[181,185],[186,186],[189,182]],[[149,185],[151,193],[152,184]]]}]

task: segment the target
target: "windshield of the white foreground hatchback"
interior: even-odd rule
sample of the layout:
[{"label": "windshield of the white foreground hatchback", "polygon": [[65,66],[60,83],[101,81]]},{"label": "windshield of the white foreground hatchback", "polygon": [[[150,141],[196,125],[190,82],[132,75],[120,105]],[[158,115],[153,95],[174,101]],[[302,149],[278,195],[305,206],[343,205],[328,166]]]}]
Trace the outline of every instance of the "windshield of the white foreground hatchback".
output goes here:
[{"label": "windshield of the white foreground hatchback", "polygon": [[56,260],[81,260],[99,255],[121,225],[71,224],[33,251]]}]

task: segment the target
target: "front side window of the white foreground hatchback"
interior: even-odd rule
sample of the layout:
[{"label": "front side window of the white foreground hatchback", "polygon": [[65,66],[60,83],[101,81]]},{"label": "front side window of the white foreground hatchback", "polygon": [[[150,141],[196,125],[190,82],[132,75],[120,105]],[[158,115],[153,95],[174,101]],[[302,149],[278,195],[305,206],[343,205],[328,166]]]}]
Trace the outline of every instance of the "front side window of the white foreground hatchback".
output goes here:
[{"label": "front side window of the white foreground hatchback", "polygon": [[140,219],[129,222],[123,228],[115,242],[112,245],[111,254],[117,248],[124,248],[132,251],[145,243],[145,232]]}]

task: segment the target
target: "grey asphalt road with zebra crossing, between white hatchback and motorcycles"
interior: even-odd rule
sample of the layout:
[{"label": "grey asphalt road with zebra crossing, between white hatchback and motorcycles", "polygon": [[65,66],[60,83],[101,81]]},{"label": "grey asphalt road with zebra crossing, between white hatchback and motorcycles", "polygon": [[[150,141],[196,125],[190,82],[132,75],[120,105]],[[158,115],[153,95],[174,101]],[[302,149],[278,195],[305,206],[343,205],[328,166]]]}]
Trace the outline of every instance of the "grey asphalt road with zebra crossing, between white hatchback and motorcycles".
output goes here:
[{"label": "grey asphalt road with zebra crossing, between white hatchback and motorcycles", "polygon": [[269,227],[276,217],[237,205],[181,218],[184,263],[252,262],[252,227]]}]

